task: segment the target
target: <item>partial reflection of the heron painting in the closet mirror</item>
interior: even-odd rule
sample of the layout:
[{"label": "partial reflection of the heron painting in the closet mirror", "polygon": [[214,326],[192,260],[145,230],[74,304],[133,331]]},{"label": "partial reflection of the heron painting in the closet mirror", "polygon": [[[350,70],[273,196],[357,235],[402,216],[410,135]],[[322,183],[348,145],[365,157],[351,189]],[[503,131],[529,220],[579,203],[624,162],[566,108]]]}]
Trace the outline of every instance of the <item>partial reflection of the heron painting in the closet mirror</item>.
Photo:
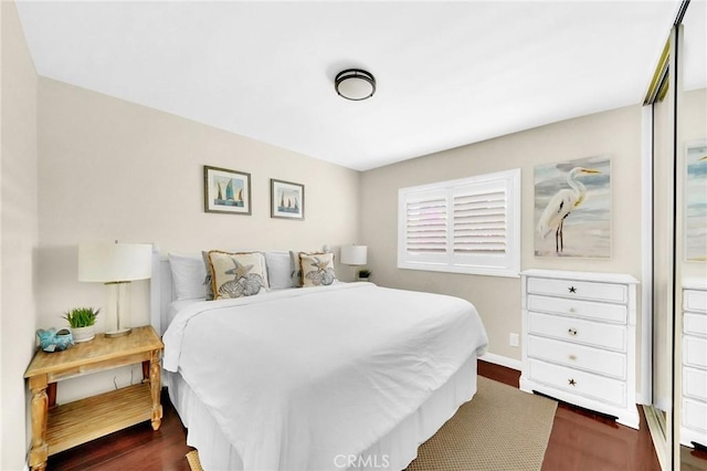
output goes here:
[{"label": "partial reflection of the heron painting in the closet mirror", "polygon": [[707,139],[685,151],[685,260],[707,261]]}]

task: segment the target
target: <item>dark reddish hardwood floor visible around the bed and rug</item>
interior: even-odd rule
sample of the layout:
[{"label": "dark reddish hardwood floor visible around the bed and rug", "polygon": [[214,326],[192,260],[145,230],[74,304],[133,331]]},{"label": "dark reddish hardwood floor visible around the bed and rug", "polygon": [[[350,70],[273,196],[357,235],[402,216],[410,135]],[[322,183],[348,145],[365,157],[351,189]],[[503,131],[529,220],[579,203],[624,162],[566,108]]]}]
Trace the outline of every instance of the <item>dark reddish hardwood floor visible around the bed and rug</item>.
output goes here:
[{"label": "dark reddish hardwood floor visible around the bed and rug", "polygon": [[[478,374],[518,387],[520,373],[478,362]],[[149,422],[50,457],[48,469],[189,471],[186,430],[162,395],[165,417],[156,432]],[[641,429],[620,426],[598,415],[560,405],[542,470],[659,470],[651,433],[641,414]]]}]

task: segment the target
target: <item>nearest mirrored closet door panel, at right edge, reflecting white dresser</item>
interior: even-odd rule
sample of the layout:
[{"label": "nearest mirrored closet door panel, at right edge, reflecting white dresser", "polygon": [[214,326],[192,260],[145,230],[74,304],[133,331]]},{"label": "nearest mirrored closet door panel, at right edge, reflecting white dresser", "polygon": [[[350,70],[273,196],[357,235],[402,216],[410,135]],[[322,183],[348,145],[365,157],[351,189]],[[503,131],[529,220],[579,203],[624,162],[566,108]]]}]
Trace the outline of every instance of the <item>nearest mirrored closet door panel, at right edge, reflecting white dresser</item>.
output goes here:
[{"label": "nearest mirrored closet door panel, at right edge, reflecting white dresser", "polygon": [[677,32],[675,469],[707,469],[707,3]]}]

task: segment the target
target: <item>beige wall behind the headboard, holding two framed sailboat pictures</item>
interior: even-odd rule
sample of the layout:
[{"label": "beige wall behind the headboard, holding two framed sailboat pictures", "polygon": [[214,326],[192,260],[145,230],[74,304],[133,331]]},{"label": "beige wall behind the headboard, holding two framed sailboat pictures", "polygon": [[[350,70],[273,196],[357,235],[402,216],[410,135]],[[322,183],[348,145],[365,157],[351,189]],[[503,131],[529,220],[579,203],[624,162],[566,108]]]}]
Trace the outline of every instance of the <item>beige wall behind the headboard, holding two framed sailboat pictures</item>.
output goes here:
[{"label": "beige wall behind the headboard, holding two framed sailboat pictures", "polygon": [[[358,239],[358,171],[49,78],[39,91],[40,326],[62,325],[72,306],[105,302],[103,285],[76,281],[81,242],[155,242],[166,254],[320,250]],[[251,174],[252,216],[203,211],[203,165]],[[270,178],[305,185],[305,221],[270,217]],[[344,280],[347,269],[338,268]],[[148,282],[133,284],[134,325],[148,324]],[[65,381],[57,397],[138,376],[139,368],[133,378],[128,369]]]}]

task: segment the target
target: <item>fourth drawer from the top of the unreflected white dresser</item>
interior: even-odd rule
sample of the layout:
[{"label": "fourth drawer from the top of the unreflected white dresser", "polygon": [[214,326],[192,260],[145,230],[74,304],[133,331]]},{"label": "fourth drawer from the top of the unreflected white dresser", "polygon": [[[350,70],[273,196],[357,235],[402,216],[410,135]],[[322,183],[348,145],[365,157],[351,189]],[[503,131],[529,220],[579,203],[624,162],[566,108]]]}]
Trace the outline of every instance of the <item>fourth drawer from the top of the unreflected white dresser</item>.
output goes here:
[{"label": "fourth drawer from the top of the unreflected white dresser", "polygon": [[585,369],[618,379],[626,378],[626,357],[623,354],[592,348],[569,342],[528,336],[529,357]]}]

